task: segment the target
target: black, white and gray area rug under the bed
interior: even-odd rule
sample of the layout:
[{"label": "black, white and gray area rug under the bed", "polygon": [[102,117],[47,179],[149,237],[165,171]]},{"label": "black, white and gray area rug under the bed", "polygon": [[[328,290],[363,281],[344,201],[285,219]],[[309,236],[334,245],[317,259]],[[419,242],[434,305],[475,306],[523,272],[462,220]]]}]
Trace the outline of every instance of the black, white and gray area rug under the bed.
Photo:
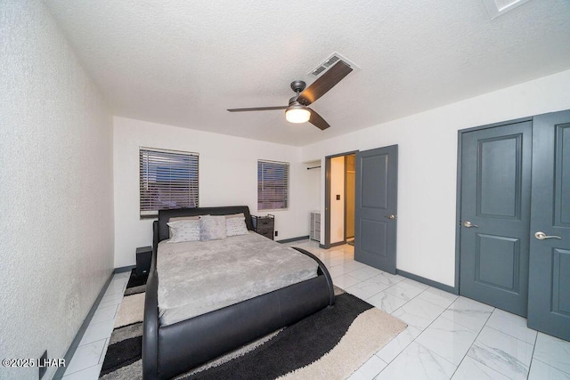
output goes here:
[{"label": "black, white and gray area rug under the bed", "polygon": [[[142,378],[144,280],[131,275],[100,378]],[[337,288],[334,307],[176,379],[345,379],[406,325]]]}]

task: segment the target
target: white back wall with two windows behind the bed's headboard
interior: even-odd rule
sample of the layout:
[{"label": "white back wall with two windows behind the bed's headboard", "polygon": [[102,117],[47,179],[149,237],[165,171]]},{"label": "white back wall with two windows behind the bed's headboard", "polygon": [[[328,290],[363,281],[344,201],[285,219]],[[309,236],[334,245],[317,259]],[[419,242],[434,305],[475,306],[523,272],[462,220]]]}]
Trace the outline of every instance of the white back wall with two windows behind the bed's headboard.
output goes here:
[{"label": "white back wall with two windows behind the bed's headboard", "polygon": [[289,210],[270,212],[276,239],[308,235],[310,174],[301,164],[300,148],[114,117],[115,267],[133,265],[136,247],[152,242],[152,221],[139,217],[142,146],[199,153],[199,206],[246,205],[251,214],[258,214],[257,159],[289,162]]}]

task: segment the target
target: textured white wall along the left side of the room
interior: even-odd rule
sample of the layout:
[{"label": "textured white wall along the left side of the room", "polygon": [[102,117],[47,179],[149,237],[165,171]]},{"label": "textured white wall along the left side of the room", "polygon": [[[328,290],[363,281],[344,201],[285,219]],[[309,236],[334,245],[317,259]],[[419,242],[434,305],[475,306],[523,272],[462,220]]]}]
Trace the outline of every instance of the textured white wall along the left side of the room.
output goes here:
[{"label": "textured white wall along the left side of the room", "polygon": [[113,268],[112,118],[41,1],[2,2],[0,46],[0,357],[63,358]]}]

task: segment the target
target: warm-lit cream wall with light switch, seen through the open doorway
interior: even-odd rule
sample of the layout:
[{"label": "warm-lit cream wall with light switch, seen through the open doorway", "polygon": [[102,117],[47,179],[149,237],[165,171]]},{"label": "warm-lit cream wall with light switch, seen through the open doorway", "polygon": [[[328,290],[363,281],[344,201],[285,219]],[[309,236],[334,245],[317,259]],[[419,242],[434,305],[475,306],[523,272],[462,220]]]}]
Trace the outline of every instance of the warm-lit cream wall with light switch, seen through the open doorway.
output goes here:
[{"label": "warm-lit cream wall with light switch, seen through the open doorway", "polygon": [[[337,195],[340,199],[337,200]],[[330,244],[345,239],[345,157],[330,158]]]}]

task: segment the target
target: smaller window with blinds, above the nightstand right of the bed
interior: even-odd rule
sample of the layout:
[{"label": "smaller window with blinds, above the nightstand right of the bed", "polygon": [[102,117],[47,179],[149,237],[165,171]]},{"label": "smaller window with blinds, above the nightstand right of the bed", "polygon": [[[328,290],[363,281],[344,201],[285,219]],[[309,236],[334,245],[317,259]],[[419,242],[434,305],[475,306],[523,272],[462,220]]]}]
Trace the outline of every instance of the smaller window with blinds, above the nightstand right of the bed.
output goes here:
[{"label": "smaller window with blinds, above the nightstand right of the bed", "polygon": [[289,164],[257,161],[257,209],[279,210],[289,207]]}]

